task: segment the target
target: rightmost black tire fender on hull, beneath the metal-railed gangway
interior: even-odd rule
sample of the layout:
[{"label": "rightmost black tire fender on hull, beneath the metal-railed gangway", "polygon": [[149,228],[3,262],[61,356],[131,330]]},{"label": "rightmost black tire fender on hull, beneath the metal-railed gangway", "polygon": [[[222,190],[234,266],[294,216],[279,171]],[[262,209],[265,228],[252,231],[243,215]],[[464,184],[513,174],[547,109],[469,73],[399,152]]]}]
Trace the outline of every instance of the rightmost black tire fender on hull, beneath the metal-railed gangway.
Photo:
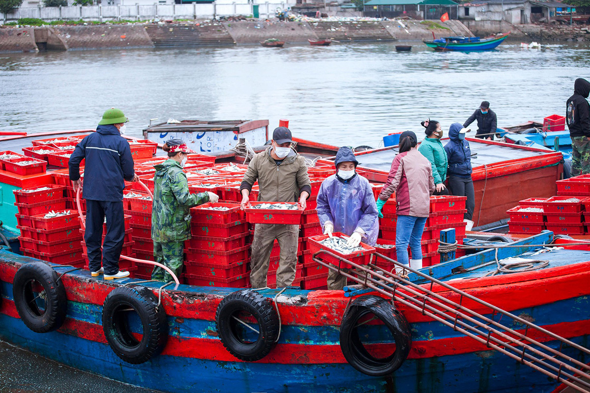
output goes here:
[{"label": "rightmost black tire fender on hull, beneath the metal-railed gangway", "polygon": [[[375,358],[360,342],[358,321],[373,313],[389,329],[395,341],[395,352],[387,358]],[[346,307],[340,325],[340,349],[346,361],[358,371],[371,377],[393,374],[408,357],[412,348],[409,323],[388,300],[375,295],[360,296]]]}]

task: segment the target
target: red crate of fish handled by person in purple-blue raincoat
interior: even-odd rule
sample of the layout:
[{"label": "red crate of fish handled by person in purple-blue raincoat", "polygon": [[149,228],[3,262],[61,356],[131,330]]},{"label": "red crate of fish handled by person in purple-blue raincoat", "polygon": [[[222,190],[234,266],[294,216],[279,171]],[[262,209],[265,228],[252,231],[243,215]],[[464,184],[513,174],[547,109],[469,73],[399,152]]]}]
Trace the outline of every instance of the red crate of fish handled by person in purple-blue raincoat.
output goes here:
[{"label": "red crate of fish handled by person in purple-blue raincoat", "polygon": [[[368,265],[375,253],[375,247],[362,242],[356,247],[347,245],[348,236],[339,232],[332,233],[332,237],[328,235],[312,236],[307,239],[307,242],[309,243],[309,249],[312,251],[312,255],[320,250],[325,250],[357,265]],[[343,262],[327,253],[322,253],[318,257],[333,265],[340,265],[340,267],[345,269],[351,269],[353,267],[349,263]]]}]

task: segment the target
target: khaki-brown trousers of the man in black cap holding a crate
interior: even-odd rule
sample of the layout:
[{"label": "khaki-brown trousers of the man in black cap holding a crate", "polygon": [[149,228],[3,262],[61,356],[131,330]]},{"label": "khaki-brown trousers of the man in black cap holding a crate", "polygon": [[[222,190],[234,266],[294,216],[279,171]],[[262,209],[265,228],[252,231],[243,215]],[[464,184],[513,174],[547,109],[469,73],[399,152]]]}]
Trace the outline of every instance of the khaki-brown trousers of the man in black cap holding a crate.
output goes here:
[{"label": "khaki-brown trousers of the man in black cap holding a crate", "polygon": [[266,278],[270,265],[270,253],[274,239],[281,248],[277,269],[277,288],[290,286],[297,269],[297,242],[299,226],[286,224],[256,224],[250,255],[250,283],[252,288],[267,286]]}]

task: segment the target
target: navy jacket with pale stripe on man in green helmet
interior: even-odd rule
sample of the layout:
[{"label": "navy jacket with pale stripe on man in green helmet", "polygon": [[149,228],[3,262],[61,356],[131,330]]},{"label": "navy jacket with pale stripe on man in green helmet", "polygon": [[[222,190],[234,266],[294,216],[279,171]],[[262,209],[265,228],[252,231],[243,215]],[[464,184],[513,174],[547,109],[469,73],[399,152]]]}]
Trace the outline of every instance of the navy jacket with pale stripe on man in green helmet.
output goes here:
[{"label": "navy jacket with pale stripe on man in green helmet", "polygon": [[117,127],[98,126],[76,145],[70,157],[70,180],[80,179],[80,161],[84,164],[84,199],[120,202],[123,200],[124,180],[135,176],[129,142]]}]

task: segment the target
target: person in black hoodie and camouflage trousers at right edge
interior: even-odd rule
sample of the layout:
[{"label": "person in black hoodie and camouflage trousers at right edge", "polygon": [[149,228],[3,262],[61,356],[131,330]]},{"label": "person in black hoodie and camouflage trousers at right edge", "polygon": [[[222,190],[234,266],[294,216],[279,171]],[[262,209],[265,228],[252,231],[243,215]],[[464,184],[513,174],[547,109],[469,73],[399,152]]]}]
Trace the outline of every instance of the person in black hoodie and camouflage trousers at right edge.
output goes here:
[{"label": "person in black hoodie and camouflage trousers at right edge", "polygon": [[566,123],[572,138],[572,176],[590,173],[590,82],[578,78],[566,101]]}]

